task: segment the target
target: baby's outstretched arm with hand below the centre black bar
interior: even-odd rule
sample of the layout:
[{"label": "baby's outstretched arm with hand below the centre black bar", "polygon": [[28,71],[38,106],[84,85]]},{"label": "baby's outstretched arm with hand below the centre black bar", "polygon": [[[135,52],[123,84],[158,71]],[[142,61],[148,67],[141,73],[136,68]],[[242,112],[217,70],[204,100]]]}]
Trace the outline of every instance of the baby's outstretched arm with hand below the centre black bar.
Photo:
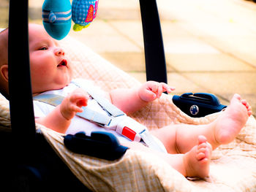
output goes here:
[{"label": "baby's outstretched arm with hand below the centre black bar", "polygon": [[110,92],[110,99],[116,107],[129,114],[159,98],[162,92],[170,93],[174,90],[164,82],[148,81],[138,88],[115,89]]}]

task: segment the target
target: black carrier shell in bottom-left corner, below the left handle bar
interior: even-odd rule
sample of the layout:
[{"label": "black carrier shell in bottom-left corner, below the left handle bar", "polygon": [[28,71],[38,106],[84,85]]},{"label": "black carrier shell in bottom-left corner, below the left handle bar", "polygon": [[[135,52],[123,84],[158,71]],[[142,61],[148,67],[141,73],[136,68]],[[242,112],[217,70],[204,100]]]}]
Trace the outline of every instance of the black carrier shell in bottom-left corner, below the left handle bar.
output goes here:
[{"label": "black carrier shell in bottom-left corner, below the left handle bar", "polygon": [[26,162],[20,154],[13,154],[12,142],[12,133],[1,131],[0,191],[90,191],[72,174],[42,134],[35,135],[37,150]]}]

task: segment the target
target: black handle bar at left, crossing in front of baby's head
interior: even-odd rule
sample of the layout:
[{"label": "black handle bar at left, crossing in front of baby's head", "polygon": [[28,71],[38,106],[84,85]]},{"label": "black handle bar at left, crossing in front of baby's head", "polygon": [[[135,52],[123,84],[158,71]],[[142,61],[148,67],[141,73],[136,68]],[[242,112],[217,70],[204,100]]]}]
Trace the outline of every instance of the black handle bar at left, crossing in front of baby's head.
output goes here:
[{"label": "black handle bar at left, crossing in front of baby's head", "polygon": [[[10,116],[12,134],[15,137],[14,141],[18,144],[15,145],[15,149],[20,153],[34,147],[35,135],[28,30],[28,0],[10,0],[8,31]],[[17,51],[16,45],[22,48]],[[20,128],[20,120],[22,120],[22,128]]]}]

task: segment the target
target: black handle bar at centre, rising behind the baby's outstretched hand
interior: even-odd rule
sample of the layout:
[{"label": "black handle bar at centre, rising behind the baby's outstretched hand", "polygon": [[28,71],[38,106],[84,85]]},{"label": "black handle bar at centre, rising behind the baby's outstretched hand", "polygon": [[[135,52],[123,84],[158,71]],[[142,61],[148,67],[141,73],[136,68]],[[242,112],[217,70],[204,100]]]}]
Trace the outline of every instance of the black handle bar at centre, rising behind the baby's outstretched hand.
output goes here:
[{"label": "black handle bar at centre, rising behind the baby's outstretched hand", "polygon": [[156,0],[140,0],[146,79],[167,83],[165,49]]}]

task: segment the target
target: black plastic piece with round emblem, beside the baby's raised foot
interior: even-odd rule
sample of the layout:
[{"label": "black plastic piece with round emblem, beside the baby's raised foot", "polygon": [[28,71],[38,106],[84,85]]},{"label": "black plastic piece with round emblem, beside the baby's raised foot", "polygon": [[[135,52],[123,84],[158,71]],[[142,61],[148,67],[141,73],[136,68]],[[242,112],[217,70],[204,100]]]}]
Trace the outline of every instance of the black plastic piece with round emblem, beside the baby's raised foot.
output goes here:
[{"label": "black plastic piece with round emblem, beside the baby's raised foot", "polygon": [[204,117],[227,107],[220,104],[217,96],[211,93],[184,93],[181,96],[173,96],[173,103],[193,118]]}]

